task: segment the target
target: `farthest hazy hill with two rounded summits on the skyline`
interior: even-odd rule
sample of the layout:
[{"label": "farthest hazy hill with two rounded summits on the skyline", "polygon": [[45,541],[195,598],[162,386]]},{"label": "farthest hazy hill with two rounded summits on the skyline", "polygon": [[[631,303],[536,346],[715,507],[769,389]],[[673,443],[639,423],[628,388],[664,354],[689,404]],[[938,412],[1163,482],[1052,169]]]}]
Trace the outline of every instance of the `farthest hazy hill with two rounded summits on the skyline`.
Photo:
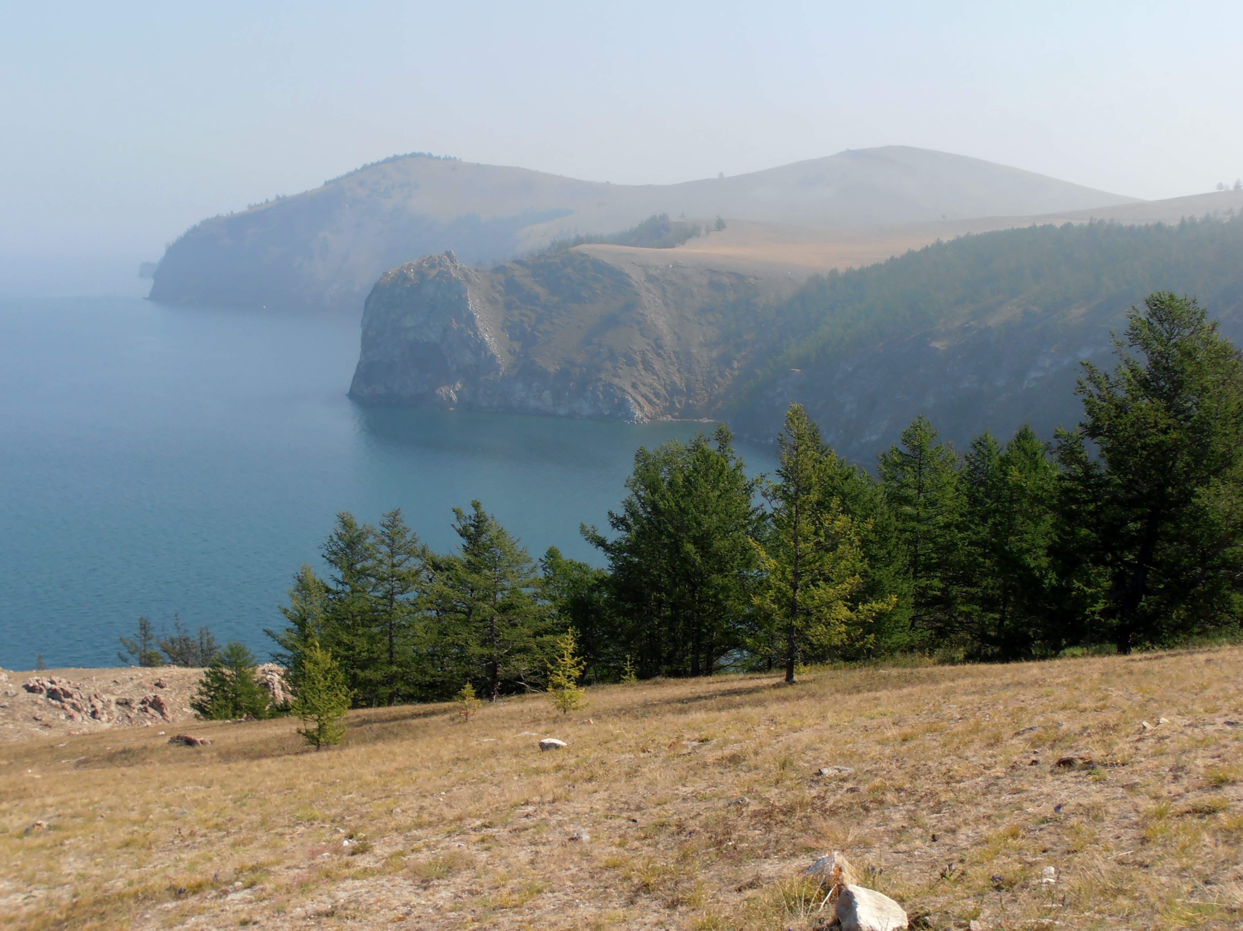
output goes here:
[{"label": "farthest hazy hill with two rounded summits on the skyline", "polygon": [[160,260],[153,301],[358,313],[388,268],[454,250],[471,265],[653,214],[809,227],[1030,216],[1135,203],[927,149],[855,149],[671,185],[582,181],[425,155],[385,159],[290,198],[204,220]]}]

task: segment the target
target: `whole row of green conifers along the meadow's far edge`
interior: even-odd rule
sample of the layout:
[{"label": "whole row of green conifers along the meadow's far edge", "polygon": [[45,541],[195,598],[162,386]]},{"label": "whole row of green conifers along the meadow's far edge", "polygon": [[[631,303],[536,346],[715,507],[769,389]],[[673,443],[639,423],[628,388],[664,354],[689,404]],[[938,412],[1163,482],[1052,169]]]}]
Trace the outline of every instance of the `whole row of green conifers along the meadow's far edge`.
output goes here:
[{"label": "whole row of green conifers along the meadow's far edge", "polygon": [[[917,416],[875,475],[791,405],[776,474],[720,426],[635,454],[607,568],[538,561],[480,502],[435,553],[399,510],[341,513],[267,634],[297,690],[331,656],[359,706],[546,690],[564,635],[589,681],[779,670],[900,653],[1021,660],[1237,630],[1243,362],[1202,307],[1132,308],[1083,420],[983,433],[960,454]],[[561,654],[558,653],[561,651]],[[561,656],[564,665],[564,656]],[[564,685],[564,684],[562,684]]]}]

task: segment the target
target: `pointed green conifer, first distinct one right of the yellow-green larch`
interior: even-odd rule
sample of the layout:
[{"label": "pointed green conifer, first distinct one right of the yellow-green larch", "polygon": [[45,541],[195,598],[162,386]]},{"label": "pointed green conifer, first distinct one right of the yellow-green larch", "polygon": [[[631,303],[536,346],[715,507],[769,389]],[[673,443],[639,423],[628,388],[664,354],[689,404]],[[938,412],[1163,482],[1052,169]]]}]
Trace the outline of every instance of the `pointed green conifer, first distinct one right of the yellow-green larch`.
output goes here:
[{"label": "pointed green conifer, first distinct one right of the yellow-green larch", "polygon": [[902,430],[901,443],[880,455],[885,500],[911,580],[912,620],[945,636],[955,633],[950,584],[958,547],[957,455],[937,441],[922,414]]}]

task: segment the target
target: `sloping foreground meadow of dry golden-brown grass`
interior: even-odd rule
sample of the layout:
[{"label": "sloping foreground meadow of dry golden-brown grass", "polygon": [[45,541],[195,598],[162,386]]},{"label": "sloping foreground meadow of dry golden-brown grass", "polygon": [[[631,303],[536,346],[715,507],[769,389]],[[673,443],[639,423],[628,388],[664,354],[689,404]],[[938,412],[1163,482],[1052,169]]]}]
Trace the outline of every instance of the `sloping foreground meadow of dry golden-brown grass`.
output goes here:
[{"label": "sloping foreground meadow of dry golden-brown grass", "polygon": [[593,725],[538,697],[363,711],[323,753],[291,721],[9,745],[0,924],[814,927],[800,871],[837,848],[920,927],[1237,929],[1241,660],[609,686]]}]

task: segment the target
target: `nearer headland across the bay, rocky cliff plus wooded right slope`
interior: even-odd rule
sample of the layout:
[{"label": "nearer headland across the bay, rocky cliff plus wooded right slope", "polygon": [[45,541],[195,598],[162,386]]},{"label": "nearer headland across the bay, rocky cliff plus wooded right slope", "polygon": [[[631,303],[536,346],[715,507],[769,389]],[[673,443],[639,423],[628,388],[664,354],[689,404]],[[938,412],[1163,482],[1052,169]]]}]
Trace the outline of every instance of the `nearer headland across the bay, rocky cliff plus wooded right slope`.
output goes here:
[{"label": "nearer headland across the bay, rocky cliff plus wooded right slope", "polygon": [[615,245],[488,271],[411,262],[367,300],[351,394],[723,418],[753,439],[797,400],[839,452],[871,462],[921,413],[960,446],[984,428],[1073,426],[1079,362],[1110,364],[1110,329],[1156,290],[1198,296],[1243,342],[1243,216],[973,234],[807,283],[757,267]]}]

